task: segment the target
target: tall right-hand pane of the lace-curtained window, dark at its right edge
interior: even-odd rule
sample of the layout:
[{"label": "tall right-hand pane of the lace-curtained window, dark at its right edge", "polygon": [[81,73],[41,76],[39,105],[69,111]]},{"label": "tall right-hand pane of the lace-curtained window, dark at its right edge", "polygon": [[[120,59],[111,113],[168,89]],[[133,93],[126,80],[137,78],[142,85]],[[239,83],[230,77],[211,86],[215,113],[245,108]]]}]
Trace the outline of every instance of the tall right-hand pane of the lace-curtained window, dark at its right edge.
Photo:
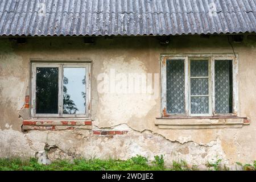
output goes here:
[{"label": "tall right-hand pane of the lace-curtained window, dark at its right edge", "polygon": [[233,113],[232,60],[216,60],[215,111],[217,114]]}]

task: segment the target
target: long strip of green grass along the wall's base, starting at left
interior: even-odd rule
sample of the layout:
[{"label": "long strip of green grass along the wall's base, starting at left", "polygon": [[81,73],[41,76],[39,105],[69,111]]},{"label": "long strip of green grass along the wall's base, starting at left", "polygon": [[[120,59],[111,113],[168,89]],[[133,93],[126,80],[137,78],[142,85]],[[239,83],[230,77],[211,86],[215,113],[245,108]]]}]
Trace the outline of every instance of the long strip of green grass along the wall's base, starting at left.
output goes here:
[{"label": "long strip of green grass along the wall's base, starting at left", "polygon": [[163,170],[192,170],[184,162],[174,162],[172,168],[164,167],[163,155],[155,156],[155,160],[150,162],[147,158],[137,155],[128,160],[101,160],[101,159],[75,159],[55,160],[52,164],[38,164],[37,159],[0,159],[0,171],[163,171]]}]

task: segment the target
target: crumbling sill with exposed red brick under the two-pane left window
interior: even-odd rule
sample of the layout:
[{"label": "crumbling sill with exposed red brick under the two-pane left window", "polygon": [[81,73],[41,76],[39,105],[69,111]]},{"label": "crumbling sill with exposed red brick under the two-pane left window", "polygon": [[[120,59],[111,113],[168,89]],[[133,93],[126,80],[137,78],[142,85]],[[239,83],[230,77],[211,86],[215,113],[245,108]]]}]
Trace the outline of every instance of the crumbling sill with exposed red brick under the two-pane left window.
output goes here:
[{"label": "crumbling sill with exposed red brick under the two-pane left window", "polygon": [[92,129],[90,119],[27,119],[23,121],[22,131],[28,130],[74,130]]}]

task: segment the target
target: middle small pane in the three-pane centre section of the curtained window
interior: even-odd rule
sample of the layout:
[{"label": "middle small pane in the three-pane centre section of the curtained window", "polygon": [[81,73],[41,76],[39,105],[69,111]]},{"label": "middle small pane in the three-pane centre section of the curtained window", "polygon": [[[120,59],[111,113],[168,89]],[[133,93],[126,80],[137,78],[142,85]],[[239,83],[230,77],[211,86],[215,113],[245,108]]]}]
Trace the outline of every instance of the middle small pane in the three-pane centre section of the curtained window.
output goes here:
[{"label": "middle small pane in the three-pane centre section of the curtained window", "polygon": [[208,95],[208,78],[191,78],[191,96]]}]

